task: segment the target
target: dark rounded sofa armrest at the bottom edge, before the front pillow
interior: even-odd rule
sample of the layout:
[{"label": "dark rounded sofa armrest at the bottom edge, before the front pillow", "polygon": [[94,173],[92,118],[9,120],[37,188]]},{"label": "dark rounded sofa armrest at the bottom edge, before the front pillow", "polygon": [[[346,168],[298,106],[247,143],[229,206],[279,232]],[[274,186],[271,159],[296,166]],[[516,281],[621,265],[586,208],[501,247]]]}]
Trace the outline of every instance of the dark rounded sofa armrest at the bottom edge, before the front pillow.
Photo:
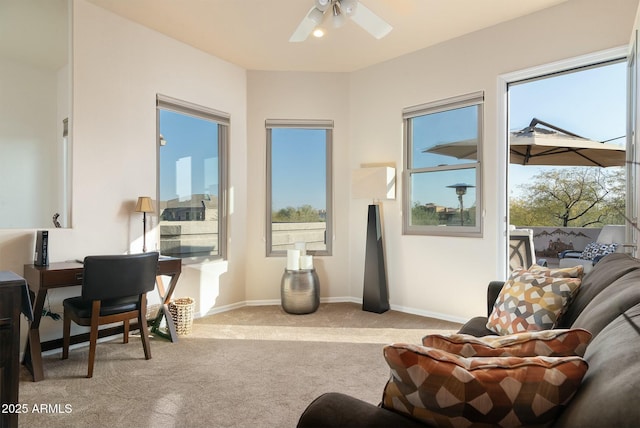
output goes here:
[{"label": "dark rounded sofa armrest at the bottom edge, before the front pillow", "polygon": [[338,392],[322,394],[307,406],[297,428],[424,427],[413,419]]}]

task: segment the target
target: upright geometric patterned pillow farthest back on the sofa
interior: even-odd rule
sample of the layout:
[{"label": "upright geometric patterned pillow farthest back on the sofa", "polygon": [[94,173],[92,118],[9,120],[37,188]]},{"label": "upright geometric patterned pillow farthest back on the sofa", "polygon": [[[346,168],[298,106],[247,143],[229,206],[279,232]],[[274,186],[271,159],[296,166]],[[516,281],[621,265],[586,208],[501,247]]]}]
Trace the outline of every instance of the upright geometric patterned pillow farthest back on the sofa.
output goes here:
[{"label": "upright geometric patterned pillow farthest back on the sofa", "polygon": [[514,271],[496,299],[487,328],[499,335],[554,328],[580,281]]}]

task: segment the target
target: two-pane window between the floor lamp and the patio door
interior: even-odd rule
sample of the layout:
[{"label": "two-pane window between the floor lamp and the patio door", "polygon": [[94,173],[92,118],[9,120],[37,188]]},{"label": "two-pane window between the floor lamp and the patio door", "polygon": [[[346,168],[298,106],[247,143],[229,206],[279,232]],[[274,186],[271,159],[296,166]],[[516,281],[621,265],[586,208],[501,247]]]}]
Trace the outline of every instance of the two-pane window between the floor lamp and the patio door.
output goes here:
[{"label": "two-pane window between the floor lamp and the patio door", "polygon": [[405,234],[481,236],[484,94],[403,111]]}]

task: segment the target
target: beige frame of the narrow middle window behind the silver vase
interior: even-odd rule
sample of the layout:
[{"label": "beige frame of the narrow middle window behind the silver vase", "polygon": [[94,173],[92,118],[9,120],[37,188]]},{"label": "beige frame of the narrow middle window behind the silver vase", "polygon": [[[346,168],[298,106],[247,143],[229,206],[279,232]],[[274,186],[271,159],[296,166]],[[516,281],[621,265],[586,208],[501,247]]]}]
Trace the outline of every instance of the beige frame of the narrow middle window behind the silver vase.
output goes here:
[{"label": "beige frame of the narrow middle window behind the silver vase", "polygon": [[283,257],[287,255],[286,250],[273,250],[273,229],[272,229],[272,130],[274,128],[296,128],[318,130],[326,132],[326,218],[325,218],[325,249],[307,249],[307,254],[313,256],[331,256],[333,254],[333,120],[322,119],[266,119],[266,219],[265,219],[265,252],[267,257]]}]

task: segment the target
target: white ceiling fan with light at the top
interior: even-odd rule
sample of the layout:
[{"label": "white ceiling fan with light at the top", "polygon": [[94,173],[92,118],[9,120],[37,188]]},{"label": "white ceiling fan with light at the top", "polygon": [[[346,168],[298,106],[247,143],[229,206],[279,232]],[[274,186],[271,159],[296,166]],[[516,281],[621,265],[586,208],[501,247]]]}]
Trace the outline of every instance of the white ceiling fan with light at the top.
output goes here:
[{"label": "white ceiling fan with light at the top", "polygon": [[392,30],[382,18],[358,0],[314,0],[313,7],[302,18],[298,28],[289,38],[290,42],[303,42],[327,16],[334,27],[341,27],[351,18],[376,39],[381,39]]}]

